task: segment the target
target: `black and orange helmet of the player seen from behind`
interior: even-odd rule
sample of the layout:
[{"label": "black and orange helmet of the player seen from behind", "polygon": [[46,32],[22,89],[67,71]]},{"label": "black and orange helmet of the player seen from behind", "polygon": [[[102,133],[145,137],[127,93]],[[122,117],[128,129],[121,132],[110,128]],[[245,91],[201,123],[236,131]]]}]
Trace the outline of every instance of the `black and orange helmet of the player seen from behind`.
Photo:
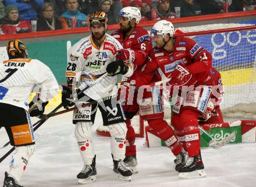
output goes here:
[{"label": "black and orange helmet of the player seen from behind", "polygon": [[8,42],[6,50],[9,56],[9,59],[13,58],[27,58],[27,47],[19,39],[13,39]]}]

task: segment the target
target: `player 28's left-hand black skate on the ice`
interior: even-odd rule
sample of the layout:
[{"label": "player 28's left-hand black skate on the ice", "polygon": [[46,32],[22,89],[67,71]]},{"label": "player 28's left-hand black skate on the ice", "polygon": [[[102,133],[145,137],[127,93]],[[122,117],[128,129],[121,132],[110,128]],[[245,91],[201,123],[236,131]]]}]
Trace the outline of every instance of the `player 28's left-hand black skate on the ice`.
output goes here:
[{"label": "player 28's left-hand black skate on the ice", "polygon": [[79,184],[87,184],[96,180],[97,170],[95,167],[95,159],[96,155],[94,156],[93,163],[91,165],[84,166],[77,175]]}]

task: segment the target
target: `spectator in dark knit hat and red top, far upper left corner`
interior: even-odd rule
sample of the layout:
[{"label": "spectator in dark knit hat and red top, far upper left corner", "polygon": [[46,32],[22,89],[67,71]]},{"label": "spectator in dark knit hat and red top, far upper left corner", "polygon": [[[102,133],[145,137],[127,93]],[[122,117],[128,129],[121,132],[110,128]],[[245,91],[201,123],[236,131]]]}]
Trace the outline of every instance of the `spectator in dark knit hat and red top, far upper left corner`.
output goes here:
[{"label": "spectator in dark knit hat and red top, far upper left corner", "polygon": [[0,20],[0,34],[15,34],[31,31],[32,28],[30,22],[19,18],[17,6],[6,6],[5,17]]}]

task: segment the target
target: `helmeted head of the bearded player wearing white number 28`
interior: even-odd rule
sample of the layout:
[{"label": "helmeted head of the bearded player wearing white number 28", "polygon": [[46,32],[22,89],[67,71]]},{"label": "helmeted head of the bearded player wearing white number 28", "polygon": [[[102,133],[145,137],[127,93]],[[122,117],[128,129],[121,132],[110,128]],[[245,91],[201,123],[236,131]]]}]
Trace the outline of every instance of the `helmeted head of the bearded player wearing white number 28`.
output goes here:
[{"label": "helmeted head of the bearded player wearing white number 28", "polygon": [[108,17],[106,13],[104,11],[93,12],[89,19],[89,25],[93,41],[97,47],[100,47],[108,30]]}]

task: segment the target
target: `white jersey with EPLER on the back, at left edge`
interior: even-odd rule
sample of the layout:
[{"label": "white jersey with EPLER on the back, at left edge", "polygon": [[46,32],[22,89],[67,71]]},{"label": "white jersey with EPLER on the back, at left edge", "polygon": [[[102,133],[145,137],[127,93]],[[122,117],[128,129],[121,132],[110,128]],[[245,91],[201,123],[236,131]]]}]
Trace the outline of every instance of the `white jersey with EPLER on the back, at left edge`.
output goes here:
[{"label": "white jersey with EPLER on the back, at left edge", "polygon": [[58,83],[47,65],[30,58],[0,63],[0,102],[28,110],[32,91],[40,91],[43,102],[58,94]]}]

